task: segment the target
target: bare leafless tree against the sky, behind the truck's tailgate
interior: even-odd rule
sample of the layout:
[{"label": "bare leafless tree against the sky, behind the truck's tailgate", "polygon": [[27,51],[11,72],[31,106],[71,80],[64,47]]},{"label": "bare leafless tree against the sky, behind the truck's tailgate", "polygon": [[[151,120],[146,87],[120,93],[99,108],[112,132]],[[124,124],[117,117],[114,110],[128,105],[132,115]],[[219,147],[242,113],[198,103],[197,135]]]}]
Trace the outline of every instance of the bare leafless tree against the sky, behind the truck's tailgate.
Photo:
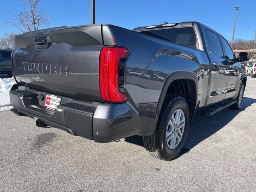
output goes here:
[{"label": "bare leafless tree against the sky, behind the truck's tailgate", "polygon": [[22,32],[36,31],[40,26],[50,26],[51,20],[46,16],[45,8],[40,6],[40,0],[22,0],[21,9],[12,13],[13,21],[6,21]]}]

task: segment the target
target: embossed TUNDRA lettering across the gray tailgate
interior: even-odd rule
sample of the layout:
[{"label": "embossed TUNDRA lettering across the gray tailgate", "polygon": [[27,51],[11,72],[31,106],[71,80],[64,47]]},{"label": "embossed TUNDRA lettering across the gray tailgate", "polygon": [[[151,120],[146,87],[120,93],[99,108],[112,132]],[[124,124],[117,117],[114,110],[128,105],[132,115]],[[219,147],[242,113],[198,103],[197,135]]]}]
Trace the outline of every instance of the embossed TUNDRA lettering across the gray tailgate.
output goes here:
[{"label": "embossed TUNDRA lettering across the gray tailgate", "polygon": [[47,63],[33,63],[22,62],[24,72],[26,73],[45,73],[56,75],[69,75],[67,65],[47,64]]}]

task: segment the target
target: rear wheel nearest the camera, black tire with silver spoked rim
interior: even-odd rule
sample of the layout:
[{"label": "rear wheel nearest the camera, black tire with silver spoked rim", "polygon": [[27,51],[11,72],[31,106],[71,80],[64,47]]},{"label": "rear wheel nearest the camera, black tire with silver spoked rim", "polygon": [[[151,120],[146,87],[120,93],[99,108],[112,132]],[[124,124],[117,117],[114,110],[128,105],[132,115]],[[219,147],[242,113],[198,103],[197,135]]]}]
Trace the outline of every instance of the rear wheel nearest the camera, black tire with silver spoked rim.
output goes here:
[{"label": "rear wheel nearest the camera, black tire with silver spoked rim", "polygon": [[[180,123],[180,127],[177,127],[177,124],[175,126],[169,125],[169,121],[171,121],[171,117],[173,116],[176,118],[176,115],[180,112],[180,120],[185,122]],[[182,114],[183,112],[183,114]],[[178,117],[178,116],[177,116]],[[184,118],[185,119],[184,119]],[[178,119],[178,118],[177,118]],[[153,135],[151,136],[144,136],[144,146],[146,150],[150,153],[150,155],[161,159],[165,161],[170,161],[173,158],[175,158],[182,147],[184,146],[186,137],[188,135],[188,126],[189,126],[189,110],[188,110],[188,104],[186,103],[186,100],[180,96],[175,96],[175,95],[168,95],[166,96],[166,99],[163,103],[162,110],[160,113],[160,116],[158,118],[158,123],[156,125],[156,130]],[[171,130],[176,130],[175,132],[172,132]],[[168,132],[169,142],[167,143],[167,134]],[[181,135],[183,131],[183,134]],[[176,135],[176,137],[175,137]],[[182,138],[179,140],[177,135],[182,136]],[[175,139],[176,138],[176,139]],[[175,139],[175,141],[174,141]],[[172,142],[174,141],[174,142]],[[176,147],[173,149],[170,148],[172,144]]]}]

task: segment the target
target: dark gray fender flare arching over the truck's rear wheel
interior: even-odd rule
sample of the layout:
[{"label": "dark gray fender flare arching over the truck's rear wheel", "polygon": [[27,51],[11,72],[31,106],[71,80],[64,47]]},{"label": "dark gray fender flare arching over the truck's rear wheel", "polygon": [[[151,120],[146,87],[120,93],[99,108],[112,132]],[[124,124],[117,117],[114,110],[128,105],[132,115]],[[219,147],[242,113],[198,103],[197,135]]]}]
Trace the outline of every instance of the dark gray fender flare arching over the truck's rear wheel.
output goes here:
[{"label": "dark gray fender flare arching over the truck's rear wheel", "polygon": [[179,79],[187,79],[187,80],[194,81],[194,83],[196,85],[196,105],[197,105],[197,103],[198,103],[198,78],[197,78],[196,74],[192,71],[187,71],[187,70],[175,71],[175,72],[172,72],[171,74],[169,74],[168,77],[166,78],[165,82],[164,82],[164,86],[162,88],[162,92],[160,94],[158,104],[157,104],[157,107],[156,107],[156,115],[158,117],[160,115],[162,105],[163,105],[163,102],[164,102],[164,98],[166,96],[166,92],[167,92],[170,84],[174,80],[179,80]]}]

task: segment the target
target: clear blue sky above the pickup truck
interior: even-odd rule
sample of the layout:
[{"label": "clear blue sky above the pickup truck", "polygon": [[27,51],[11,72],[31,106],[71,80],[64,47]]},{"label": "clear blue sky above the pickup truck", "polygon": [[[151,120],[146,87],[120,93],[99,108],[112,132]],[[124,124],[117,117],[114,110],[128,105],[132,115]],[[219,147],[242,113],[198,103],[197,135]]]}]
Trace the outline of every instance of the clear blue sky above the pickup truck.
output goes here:
[{"label": "clear blue sky above the pickup truck", "polygon": [[[51,27],[90,24],[90,0],[41,0]],[[18,32],[3,20],[22,0],[1,2],[0,34]],[[256,0],[96,0],[96,24],[114,24],[128,29],[182,21],[199,21],[232,38],[235,8],[239,6],[235,38],[254,39]],[[48,28],[47,26],[42,28]]]}]

